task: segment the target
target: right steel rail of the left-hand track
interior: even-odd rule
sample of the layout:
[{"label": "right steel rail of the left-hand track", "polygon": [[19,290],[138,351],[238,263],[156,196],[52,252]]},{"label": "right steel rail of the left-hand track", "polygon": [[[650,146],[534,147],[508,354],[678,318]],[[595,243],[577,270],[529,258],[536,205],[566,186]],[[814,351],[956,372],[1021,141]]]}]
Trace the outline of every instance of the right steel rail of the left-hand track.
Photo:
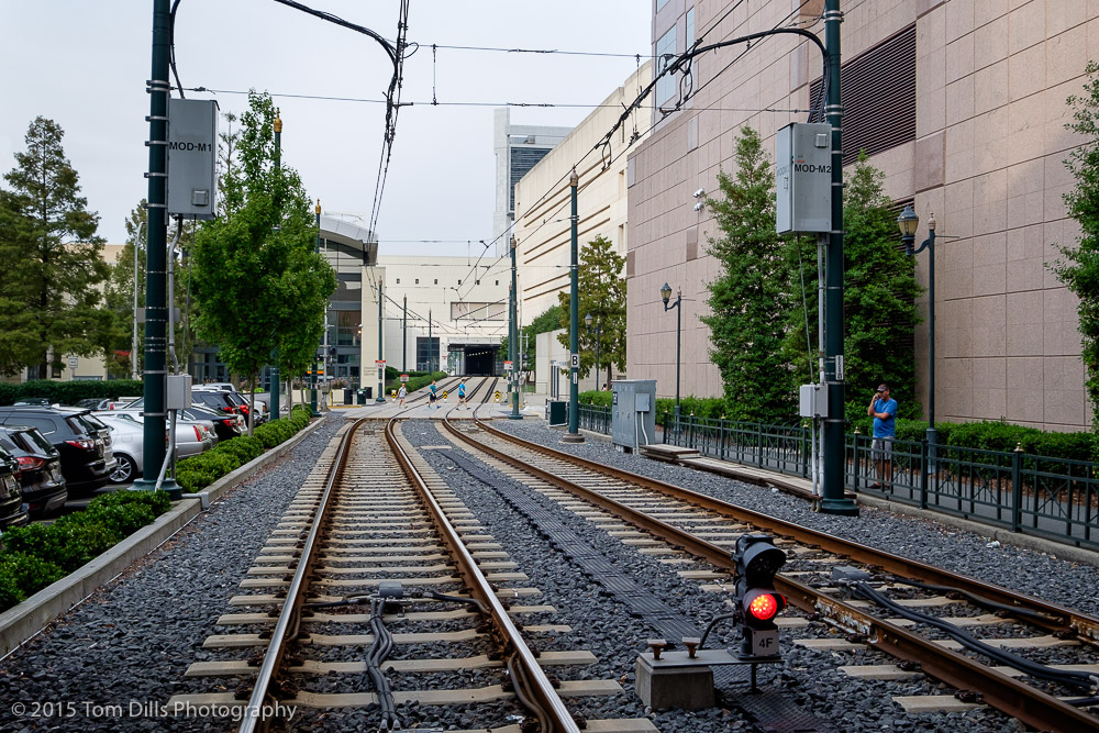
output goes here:
[{"label": "right steel rail of the left-hand track", "polygon": [[469,553],[465,543],[462,542],[454,525],[446,519],[446,514],[435,500],[426,481],[424,481],[415,466],[412,465],[411,458],[397,440],[395,430],[398,418],[392,418],[386,423],[386,440],[397,455],[406,476],[409,477],[420,492],[420,496],[423,497],[424,506],[431,513],[432,522],[435,524],[435,529],[457,563],[458,574],[469,588],[470,595],[488,608],[491,617],[489,620],[492,622],[492,625],[500,632],[501,638],[507,644],[510,644],[511,648],[515,652],[517,660],[525,673],[526,681],[530,685],[531,695],[542,708],[542,711],[548,717],[551,728],[543,733],[579,733],[579,726],[573,720],[560,696],[554,690],[545,671],[539,666],[534,653],[531,652],[522,634],[519,633],[519,629],[511,621],[508,611],[503,608],[500,599],[497,598],[488,579],[480,571],[480,568],[477,567],[474,556]]}]

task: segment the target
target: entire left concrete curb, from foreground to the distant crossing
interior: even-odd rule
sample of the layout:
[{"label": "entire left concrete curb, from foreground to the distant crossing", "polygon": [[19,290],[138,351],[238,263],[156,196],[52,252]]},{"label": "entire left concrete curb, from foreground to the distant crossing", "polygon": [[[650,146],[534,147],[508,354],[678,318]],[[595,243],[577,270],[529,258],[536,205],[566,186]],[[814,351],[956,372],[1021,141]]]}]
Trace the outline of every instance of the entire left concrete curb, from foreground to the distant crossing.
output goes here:
[{"label": "entire left concrete curb, from foreground to the distant crossing", "polygon": [[156,549],[184,525],[207,509],[211,501],[218,501],[230,489],[243,484],[262,468],[278,460],[323,422],[314,420],[286,443],[278,445],[255,460],[244,464],[231,474],[222,476],[204,491],[185,493],[184,499],[152,524],[143,526],[102,555],[68,574],[57,582],[46,586],[22,603],[0,613],[0,658],[24,644],[51,621],[90,596],[123,573],[135,560]]}]

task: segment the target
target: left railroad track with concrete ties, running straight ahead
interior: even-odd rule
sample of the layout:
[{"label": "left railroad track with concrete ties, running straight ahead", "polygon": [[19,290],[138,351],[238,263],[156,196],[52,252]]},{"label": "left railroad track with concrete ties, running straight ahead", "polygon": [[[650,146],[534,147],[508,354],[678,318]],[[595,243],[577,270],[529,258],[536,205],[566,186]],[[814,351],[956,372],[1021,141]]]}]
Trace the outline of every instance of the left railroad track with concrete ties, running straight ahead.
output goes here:
[{"label": "left railroad track with concrete ties, running straight ahead", "polygon": [[[310,730],[431,730],[436,720],[453,730],[454,715],[432,711],[473,703],[477,720],[573,732],[580,728],[563,698],[622,692],[617,680],[550,679],[543,667],[565,677],[596,658],[582,649],[535,657],[524,634],[568,629],[540,623],[555,609],[536,604],[540,591],[522,585],[526,576],[397,419],[359,420],[337,441],[231,600],[236,612],[218,619],[240,633],[208,637],[203,646],[221,658],[187,671],[220,689],[175,696],[168,710],[243,707],[242,732],[268,730],[290,711]],[[523,633],[513,618],[530,622]],[[224,691],[224,678],[235,691]],[[655,730],[646,719],[587,726]]]}]

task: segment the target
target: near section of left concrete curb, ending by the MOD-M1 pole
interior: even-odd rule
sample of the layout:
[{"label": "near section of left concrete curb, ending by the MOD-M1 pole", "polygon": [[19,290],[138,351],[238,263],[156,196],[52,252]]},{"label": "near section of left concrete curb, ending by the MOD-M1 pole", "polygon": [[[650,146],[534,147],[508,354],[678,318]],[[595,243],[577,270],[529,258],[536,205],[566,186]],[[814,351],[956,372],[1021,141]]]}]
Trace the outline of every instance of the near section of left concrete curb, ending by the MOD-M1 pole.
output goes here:
[{"label": "near section of left concrete curb, ending by the MOD-M1 pole", "polygon": [[180,527],[198,517],[199,506],[180,502],[152,524],[143,526],[102,555],[46,586],[18,606],[0,613],[0,658],[38,633],[97,588],[125,570],[135,560],[153,552]]}]

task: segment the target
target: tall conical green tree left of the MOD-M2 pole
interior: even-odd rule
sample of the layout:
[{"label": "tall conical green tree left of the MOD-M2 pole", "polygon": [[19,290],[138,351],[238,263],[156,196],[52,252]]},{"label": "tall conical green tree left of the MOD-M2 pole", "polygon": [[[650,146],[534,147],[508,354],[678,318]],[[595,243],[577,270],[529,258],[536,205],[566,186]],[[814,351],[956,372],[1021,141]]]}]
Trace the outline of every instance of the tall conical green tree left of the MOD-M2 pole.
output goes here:
[{"label": "tall conical green tree left of the MOD-M2 pole", "polygon": [[786,243],[775,233],[774,174],[759,134],[743,127],[736,173],[718,174],[721,198],[708,198],[721,236],[708,251],[722,265],[701,318],[710,358],[721,373],[729,417],[789,422],[796,418],[793,367],[782,354],[795,303]]}]

